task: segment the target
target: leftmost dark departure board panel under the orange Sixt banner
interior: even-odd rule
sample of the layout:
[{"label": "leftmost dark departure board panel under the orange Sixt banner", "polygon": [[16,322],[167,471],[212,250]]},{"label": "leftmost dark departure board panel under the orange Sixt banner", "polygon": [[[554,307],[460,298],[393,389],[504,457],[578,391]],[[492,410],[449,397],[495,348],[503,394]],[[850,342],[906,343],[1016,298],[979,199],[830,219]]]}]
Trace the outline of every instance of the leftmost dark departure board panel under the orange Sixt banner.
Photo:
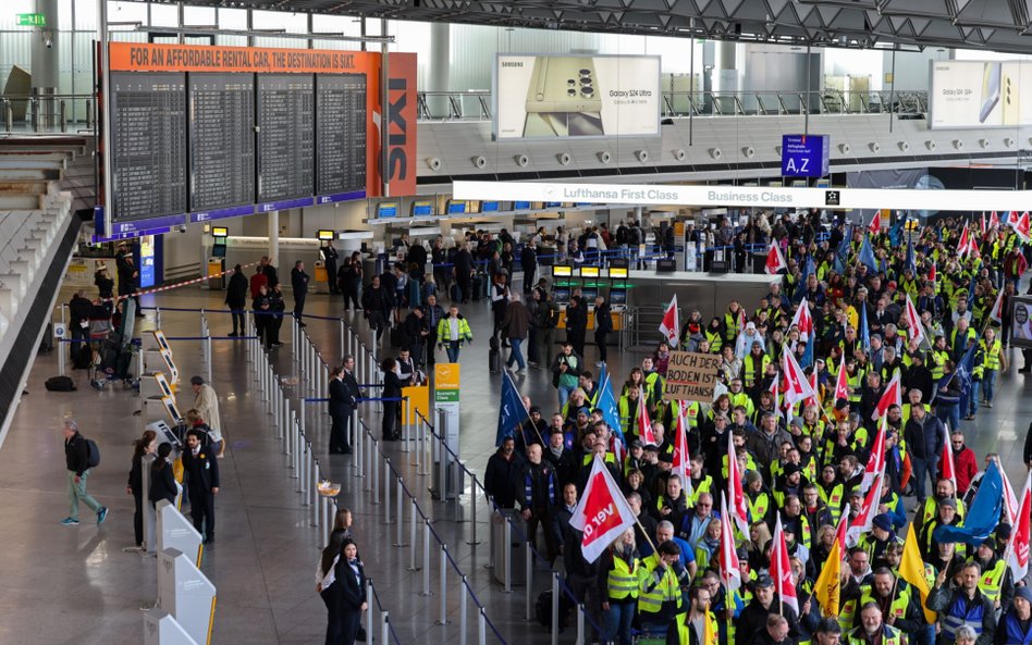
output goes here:
[{"label": "leftmost dark departure board panel under the orange Sixt banner", "polygon": [[111,73],[111,193],[122,220],[185,213],[186,75]]}]

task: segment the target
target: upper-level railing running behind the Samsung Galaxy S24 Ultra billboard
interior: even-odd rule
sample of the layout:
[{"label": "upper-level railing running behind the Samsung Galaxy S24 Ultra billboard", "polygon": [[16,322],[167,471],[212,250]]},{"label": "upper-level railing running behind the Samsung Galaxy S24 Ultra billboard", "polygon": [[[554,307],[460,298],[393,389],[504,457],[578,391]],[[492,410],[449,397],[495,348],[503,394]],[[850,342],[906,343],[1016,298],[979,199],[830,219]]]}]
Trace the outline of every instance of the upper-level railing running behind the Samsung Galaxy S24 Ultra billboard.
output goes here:
[{"label": "upper-level railing running behind the Samsung Galaxy S24 Ultra billboard", "polygon": [[[924,114],[927,90],[892,91],[664,91],[662,115],[772,116],[778,114]],[[420,91],[420,121],[490,121],[489,90]]]}]

